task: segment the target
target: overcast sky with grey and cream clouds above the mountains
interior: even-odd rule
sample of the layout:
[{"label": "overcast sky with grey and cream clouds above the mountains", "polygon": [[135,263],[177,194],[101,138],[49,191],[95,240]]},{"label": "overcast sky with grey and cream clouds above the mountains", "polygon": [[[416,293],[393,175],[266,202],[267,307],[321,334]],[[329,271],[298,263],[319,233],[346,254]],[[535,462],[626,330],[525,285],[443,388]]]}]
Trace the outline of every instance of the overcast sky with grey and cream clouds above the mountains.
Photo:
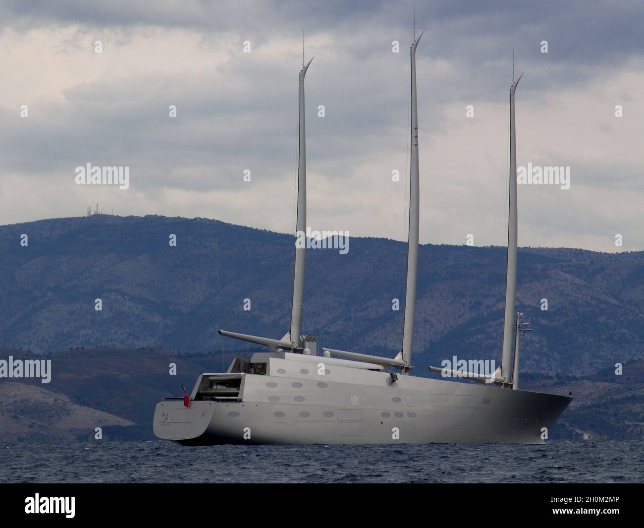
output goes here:
[{"label": "overcast sky with grey and cream clouds above the mountains", "polygon": [[[413,1],[3,2],[0,224],[99,202],[292,232],[304,30],[307,223],[404,240],[412,13]],[[417,1],[421,242],[505,244],[514,46],[518,164],[571,168],[569,190],[519,187],[520,245],[644,249],[643,20],[641,2]],[[129,166],[129,189],[77,185],[87,162]]]}]

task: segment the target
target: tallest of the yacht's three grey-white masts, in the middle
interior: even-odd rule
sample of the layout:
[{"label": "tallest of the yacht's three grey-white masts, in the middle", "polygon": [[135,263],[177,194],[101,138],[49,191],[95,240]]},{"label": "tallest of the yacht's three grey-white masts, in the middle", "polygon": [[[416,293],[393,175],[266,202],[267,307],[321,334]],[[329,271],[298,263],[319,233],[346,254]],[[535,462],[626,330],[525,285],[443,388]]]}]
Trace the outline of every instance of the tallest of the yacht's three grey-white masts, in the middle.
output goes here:
[{"label": "tallest of the yacht's three grey-white masts, in the middle", "polygon": [[[424,32],[423,32],[424,33]],[[413,323],[416,311],[416,282],[418,272],[418,228],[419,228],[419,168],[418,168],[418,107],[416,101],[416,46],[421,35],[410,48],[412,70],[412,153],[409,184],[409,237],[407,247],[407,286],[404,302],[403,328],[403,374],[412,366]]]}]

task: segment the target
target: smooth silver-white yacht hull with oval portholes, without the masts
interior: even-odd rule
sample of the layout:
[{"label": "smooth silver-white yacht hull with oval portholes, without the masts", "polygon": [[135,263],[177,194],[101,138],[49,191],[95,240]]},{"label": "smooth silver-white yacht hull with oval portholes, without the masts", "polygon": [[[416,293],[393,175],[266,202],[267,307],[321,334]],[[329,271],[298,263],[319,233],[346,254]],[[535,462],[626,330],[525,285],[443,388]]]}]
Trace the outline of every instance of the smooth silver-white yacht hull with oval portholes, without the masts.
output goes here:
[{"label": "smooth silver-white yacht hull with oval portholes, without the masts", "polygon": [[[392,382],[387,372],[341,366],[355,362],[294,356],[270,358],[270,375],[243,374],[234,400],[158,403],[155,435],[189,445],[544,444],[543,428],[572,399],[416,376]],[[327,374],[317,375],[320,363]]]}]

